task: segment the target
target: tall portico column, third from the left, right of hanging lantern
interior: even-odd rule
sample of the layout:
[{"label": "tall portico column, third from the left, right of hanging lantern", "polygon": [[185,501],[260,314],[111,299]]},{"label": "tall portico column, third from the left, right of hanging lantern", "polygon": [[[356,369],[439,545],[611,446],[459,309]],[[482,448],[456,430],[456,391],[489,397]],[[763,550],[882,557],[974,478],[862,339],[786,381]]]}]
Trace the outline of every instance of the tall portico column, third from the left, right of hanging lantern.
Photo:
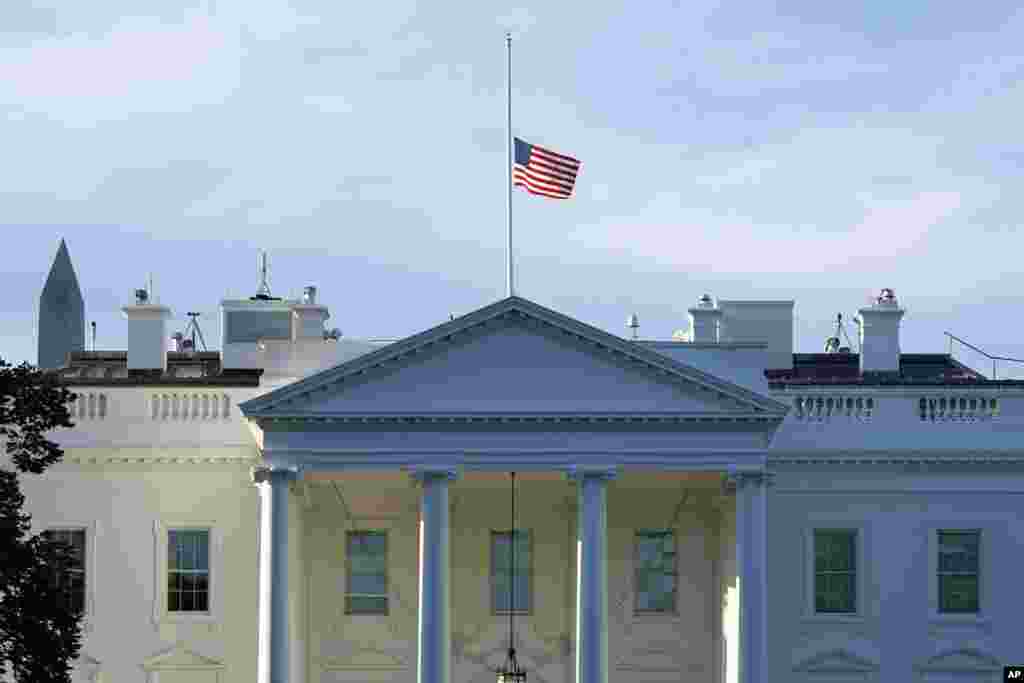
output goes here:
[{"label": "tall portico column, third from the left, right of hanging lantern", "polygon": [[608,481],[614,470],[572,470],[577,481],[575,683],[608,683]]}]

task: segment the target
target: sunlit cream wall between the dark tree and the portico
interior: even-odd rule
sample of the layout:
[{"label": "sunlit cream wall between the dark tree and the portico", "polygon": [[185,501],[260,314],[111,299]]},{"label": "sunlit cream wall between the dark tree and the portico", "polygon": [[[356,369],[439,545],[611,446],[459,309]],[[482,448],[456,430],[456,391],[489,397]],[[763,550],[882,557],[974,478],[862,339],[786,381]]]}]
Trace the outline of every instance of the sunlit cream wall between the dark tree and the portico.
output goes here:
[{"label": "sunlit cream wall between the dark tree and the portico", "polygon": [[[70,450],[80,457],[81,451]],[[99,454],[94,454],[99,455]],[[216,674],[218,683],[256,680],[256,527],[258,499],[248,466],[58,464],[42,475],[23,475],[33,532],[85,526],[87,627],[81,680],[175,680],[174,667],[205,666],[194,678]],[[177,524],[213,523],[212,620],[176,622],[157,613],[160,556]]]}]

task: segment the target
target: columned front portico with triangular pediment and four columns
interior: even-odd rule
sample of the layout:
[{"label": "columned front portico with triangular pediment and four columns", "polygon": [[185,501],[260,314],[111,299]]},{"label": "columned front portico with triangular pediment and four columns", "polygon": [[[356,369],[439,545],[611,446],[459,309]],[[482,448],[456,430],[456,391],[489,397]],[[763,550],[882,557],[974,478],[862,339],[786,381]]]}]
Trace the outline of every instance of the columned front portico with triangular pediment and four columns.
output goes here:
[{"label": "columned front portico with triangular pediment and four columns", "polygon": [[[616,516],[657,508],[679,490],[698,492],[694,500],[710,501],[721,500],[723,489],[734,500],[726,499],[726,505],[734,507],[740,596],[738,642],[730,644],[738,651],[738,672],[730,671],[727,679],[764,680],[770,479],[764,466],[768,442],[785,414],[780,403],[511,297],[242,409],[263,454],[264,467],[254,480],[267,489],[261,500],[268,506],[269,538],[261,542],[261,553],[268,555],[263,559],[270,570],[260,609],[268,615],[271,683],[298,683],[291,678],[291,660],[301,656],[289,633],[288,548],[296,528],[290,497],[309,485],[327,493],[355,490],[376,514],[375,492],[383,501],[387,490],[400,490],[400,481],[415,486],[418,498],[415,680],[469,680],[453,674],[453,652],[464,648],[453,642],[453,593],[470,586],[453,586],[453,557],[462,557],[453,541],[470,548],[474,524],[471,517],[460,517],[459,535],[466,539],[453,539],[452,493],[478,501],[475,526],[485,530],[486,495],[480,492],[488,479],[511,471],[523,474],[524,497],[537,496],[535,505],[543,510],[532,512],[538,519],[574,526],[575,547],[565,549],[574,565],[573,620],[565,629],[571,631],[566,653],[571,667],[566,674],[550,673],[555,668],[530,680],[621,680],[609,671],[609,525],[617,528]],[[548,510],[548,494],[531,494],[529,475],[547,478],[544,490],[555,492],[555,498],[558,490],[574,488],[574,505],[568,503],[564,514],[562,508]],[[645,496],[645,486],[655,484],[669,493]],[[629,503],[609,511],[609,494]],[[339,500],[344,501],[340,494]],[[675,512],[677,522],[682,508]],[[308,531],[311,522],[306,524]],[[462,571],[472,560],[459,564]],[[539,585],[554,564],[537,573]],[[642,645],[638,641],[637,647]],[[471,680],[480,675],[473,673]],[[321,680],[312,676],[308,680]],[[709,672],[699,680],[717,676]]]}]

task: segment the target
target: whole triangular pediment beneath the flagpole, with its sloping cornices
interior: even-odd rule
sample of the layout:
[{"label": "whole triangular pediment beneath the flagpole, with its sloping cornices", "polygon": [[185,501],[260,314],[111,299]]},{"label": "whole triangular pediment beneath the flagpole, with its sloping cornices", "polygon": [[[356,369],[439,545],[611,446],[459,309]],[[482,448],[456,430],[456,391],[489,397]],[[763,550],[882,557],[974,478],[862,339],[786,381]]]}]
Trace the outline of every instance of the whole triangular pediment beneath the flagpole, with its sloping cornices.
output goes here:
[{"label": "whole triangular pediment beneath the flagpole, with its sloping cornices", "polygon": [[241,405],[250,418],[785,415],[787,407],[509,297]]}]

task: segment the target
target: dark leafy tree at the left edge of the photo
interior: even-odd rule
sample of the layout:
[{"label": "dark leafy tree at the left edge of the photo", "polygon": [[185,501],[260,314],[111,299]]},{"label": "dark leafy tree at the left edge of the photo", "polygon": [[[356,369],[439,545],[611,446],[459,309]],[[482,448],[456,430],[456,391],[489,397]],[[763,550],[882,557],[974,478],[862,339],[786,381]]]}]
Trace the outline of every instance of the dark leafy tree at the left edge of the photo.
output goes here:
[{"label": "dark leafy tree at the left edge of the photo", "polygon": [[10,675],[17,683],[71,683],[71,661],[82,646],[82,612],[66,596],[73,551],[29,537],[18,485],[18,472],[41,474],[63,457],[46,433],[74,426],[74,395],[53,375],[0,358],[0,679]]}]

